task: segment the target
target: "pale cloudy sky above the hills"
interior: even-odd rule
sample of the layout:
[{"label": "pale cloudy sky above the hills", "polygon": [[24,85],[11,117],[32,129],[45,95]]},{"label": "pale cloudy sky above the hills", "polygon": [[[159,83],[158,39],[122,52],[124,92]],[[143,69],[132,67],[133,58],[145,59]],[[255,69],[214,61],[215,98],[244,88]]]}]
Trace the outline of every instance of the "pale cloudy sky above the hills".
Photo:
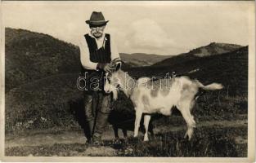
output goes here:
[{"label": "pale cloudy sky above the hills", "polygon": [[2,2],[5,27],[79,45],[92,11],[102,11],[119,52],[178,55],[210,42],[249,44],[254,2]]}]

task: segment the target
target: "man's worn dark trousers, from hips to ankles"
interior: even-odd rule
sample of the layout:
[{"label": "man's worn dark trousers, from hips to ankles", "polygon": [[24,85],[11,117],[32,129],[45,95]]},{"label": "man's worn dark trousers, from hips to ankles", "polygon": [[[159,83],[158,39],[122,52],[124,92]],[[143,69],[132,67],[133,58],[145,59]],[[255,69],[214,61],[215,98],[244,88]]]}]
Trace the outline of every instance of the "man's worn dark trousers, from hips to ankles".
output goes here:
[{"label": "man's worn dark trousers, from hips to ankles", "polygon": [[91,138],[93,135],[101,137],[110,114],[110,100],[111,96],[103,92],[84,94],[85,117],[88,121]]}]

